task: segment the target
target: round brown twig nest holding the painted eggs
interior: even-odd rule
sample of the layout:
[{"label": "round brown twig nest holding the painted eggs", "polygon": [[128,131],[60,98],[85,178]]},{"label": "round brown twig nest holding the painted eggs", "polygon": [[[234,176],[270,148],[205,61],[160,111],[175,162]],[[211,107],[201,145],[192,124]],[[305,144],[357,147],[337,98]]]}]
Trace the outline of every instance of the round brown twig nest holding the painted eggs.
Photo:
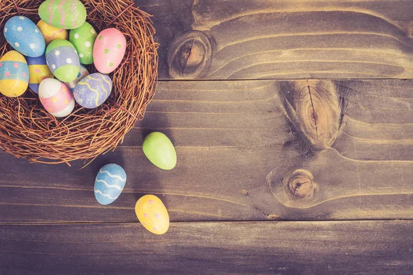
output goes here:
[{"label": "round brown twig nest holding the painted eggs", "polygon": [[[1,0],[0,30],[6,21],[23,15],[37,23],[41,0]],[[100,32],[116,28],[127,39],[122,63],[109,74],[112,94],[96,109],[76,106],[65,118],[55,118],[30,89],[18,98],[0,94],[0,148],[31,162],[67,163],[83,159],[89,163],[114,150],[137,120],[143,118],[153,98],[158,75],[158,45],[153,41],[149,14],[133,1],[82,0],[87,19]],[[0,56],[12,50],[0,34]],[[96,72],[93,65],[86,66]]]}]

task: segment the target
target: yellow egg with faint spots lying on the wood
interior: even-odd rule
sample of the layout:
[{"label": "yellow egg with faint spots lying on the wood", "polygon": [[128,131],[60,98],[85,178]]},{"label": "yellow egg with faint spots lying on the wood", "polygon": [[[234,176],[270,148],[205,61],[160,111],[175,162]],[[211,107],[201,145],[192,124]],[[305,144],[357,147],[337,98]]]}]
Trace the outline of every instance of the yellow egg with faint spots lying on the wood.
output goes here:
[{"label": "yellow egg with faint spots lying on the wood", "polygon": [[155,195],[145,195],[136,201],[135,213],[140,223],[153,234],[164,234],[169,228],[168,210]]}]

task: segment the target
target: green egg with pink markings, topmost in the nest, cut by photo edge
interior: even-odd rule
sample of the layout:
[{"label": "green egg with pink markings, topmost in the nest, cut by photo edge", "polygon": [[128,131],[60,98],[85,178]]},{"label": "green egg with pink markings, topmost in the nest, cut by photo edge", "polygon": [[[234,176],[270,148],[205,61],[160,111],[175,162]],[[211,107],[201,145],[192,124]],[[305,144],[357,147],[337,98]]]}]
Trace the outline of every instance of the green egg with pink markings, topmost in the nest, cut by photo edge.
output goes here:
[{"label": "green egg with pink markings, topmost in the nest, cut by photo edge", "polygon": [[46,0],[39,7],[39,16],[56,28],[76,29],[86,20],[86,9],[79,0]]}]

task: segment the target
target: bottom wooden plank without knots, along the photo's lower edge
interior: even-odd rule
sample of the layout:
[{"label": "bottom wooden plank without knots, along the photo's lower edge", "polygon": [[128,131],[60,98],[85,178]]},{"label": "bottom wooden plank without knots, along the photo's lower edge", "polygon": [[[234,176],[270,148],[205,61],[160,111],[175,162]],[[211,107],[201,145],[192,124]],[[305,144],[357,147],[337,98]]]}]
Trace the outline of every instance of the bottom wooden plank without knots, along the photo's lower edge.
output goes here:
[{"label": "bottom wooden plank without knots, along the photo's lower edge", "polygon": [[413,221],[0,225],[2,274],[411,274]]}]

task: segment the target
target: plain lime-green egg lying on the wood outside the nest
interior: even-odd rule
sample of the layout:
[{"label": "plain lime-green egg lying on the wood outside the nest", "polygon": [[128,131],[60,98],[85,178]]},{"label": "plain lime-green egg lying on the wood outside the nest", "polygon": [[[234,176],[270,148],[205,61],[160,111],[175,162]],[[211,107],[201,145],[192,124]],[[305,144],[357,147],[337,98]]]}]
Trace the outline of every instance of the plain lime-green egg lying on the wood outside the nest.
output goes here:
[{"label": "plain lime-green egg lying on the wood outside the nest", "polygon": [[169,138],[160,132],[150,133],[142,144],[143,153],[150,162],[161,169],[171,170],[176,166],[176,151]]}]

